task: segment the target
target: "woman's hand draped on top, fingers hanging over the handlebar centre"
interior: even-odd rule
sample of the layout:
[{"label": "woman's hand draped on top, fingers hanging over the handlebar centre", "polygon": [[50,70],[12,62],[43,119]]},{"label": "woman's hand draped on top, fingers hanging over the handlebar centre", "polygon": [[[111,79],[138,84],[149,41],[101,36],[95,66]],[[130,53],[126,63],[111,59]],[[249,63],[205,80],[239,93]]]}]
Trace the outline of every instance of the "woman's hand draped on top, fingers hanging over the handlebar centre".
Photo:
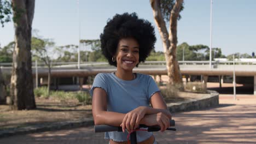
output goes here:
[{"label": "woman's hand draped on top, fingers hanging over the handlebar centre", "polygon": [[128,131],[136,129],[139,126],[141,119],[145,116],[147,109],[147,106],[139,106],[136,109],[126,113],[123,122],[120,125],[123,129],[123,132],[125,129]]}]

